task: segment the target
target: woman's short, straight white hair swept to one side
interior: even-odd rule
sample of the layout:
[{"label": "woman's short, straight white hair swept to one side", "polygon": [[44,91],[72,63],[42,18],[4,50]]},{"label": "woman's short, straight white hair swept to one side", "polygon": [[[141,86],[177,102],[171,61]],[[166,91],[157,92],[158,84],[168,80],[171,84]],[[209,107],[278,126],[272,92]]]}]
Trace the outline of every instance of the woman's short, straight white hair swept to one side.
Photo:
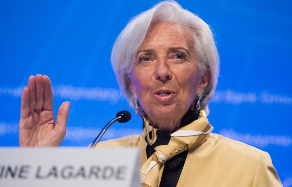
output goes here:
[{"label": "woman's short, straight white hair swept to one side", "polygon": [[[211,79],[203,92],[201,108],[209,114],[208,103],[217,85],[219,74],[219,56],[210,27],[197,15],[183,9],[175,1],[163,1],[132,18],[122,30],[113,45],[111,63],[120,89],[123,90],[134,107],[134,96],[130,90],[129,74],[133,69],[137,51],[143,43],[152,25],[172,22],[188,26],[193,31],[193,47],[198,59],[200,73],[210,68]],[[195,83],[194,83],[195,84]],[[145,113],[138,104],[140,116]]]}]

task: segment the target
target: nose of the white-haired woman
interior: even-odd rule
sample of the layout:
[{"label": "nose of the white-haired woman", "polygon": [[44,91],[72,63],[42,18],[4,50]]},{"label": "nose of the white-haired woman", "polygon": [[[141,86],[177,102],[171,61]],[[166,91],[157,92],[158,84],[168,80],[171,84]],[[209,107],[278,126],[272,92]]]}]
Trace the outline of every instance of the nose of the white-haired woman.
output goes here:
[{"label": "nose of the white-haired woman", "polygon": [[157,80],[165,82],[172,79],[172,73],[166,59],[158,60],[155,68],[155,78]]}]

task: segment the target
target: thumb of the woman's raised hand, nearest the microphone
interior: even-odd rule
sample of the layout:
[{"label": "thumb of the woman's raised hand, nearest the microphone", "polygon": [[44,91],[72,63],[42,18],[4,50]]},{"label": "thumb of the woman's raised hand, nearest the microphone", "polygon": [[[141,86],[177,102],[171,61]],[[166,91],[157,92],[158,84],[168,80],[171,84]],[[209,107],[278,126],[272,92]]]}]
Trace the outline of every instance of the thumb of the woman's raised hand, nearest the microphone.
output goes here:
[{"label": "thumb of the woman's raised hand, nearest the microphone", "polygon": [[58,110],[58,115],[57,115],[57,123],[56,123],[56,128],[59,130],[64,131],[64,135],[66,133],[66,122],[68,119],[68,112],[70,108],[70,102],[65,101],[64,103],[61,104],[59,110]]}]

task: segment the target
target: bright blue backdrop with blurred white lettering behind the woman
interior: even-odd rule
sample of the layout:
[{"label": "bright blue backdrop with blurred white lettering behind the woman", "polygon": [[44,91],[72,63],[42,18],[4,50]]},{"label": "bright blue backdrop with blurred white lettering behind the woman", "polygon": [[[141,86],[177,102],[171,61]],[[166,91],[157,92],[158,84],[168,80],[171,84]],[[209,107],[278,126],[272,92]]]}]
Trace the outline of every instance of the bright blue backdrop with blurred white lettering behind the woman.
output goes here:
[{"label": "bright blue backdrop with blurred white lettering behind the woman", "polygon": [[[50,77],[54,111],[71,101],[62,146],[87,146],[120,110],[103,139],[142,131],[110,65],[116,37],[131,17],[157,1],[1,1],[0,146],[18,146],[20,96],[30,75]],[[210,102],[214,132],[270,153],[292,186],[290,1],[184,1],[214,30],[221,60]]]}]

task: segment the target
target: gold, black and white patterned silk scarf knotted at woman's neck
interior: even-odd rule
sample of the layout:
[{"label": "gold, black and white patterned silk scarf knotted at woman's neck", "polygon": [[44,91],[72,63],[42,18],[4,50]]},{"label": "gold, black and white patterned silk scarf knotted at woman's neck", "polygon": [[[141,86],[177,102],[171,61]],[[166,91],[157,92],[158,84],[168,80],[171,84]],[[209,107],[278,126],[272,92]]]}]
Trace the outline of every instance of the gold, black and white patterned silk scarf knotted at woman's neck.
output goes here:
[{"label": "gold, black and white patterned silk scarf knotted at woman's neck", "polygon": [[171,134],[152,127],[149,121],[144,118],[145,139],[154,148],[155,152],[140,169],[143,187],[157,187],[159,170],[166,161],[185,150],[189,150],[203,143],[210,132],[213,131],[213,127],[208,122],[206,116],[206,112],[200,110],[197,120],[179,128]]}]

